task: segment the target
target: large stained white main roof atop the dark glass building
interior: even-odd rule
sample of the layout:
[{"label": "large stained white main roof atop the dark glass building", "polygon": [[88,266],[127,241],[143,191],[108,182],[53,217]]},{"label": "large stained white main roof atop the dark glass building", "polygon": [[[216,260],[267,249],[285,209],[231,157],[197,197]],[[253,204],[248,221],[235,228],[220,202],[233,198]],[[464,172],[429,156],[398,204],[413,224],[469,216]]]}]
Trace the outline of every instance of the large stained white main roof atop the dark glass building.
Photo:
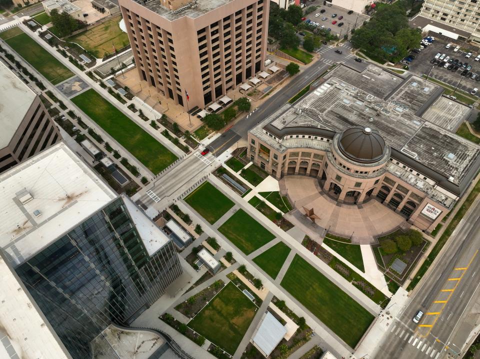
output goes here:
[{"label": "large stained white main roof atop the dark glass building", "polygon": [[0,175],[0,247],[20,264],[116,197],[60,142]]}]

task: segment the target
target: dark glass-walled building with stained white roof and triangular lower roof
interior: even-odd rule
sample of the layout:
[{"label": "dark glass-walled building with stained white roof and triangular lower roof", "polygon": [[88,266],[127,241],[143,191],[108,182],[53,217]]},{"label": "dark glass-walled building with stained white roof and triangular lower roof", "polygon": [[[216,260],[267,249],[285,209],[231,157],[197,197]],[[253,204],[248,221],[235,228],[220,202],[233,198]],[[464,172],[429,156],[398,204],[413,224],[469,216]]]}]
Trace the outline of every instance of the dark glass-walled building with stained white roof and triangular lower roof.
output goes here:
[{"label": "dark glass-walled building with stained white roof and triangular lower roof", "polygon": [[166,234],[63,143],[0,183],[13,216],[1,251],[73,359],[91,358],[95,337],[128,326],[181,275]]}]

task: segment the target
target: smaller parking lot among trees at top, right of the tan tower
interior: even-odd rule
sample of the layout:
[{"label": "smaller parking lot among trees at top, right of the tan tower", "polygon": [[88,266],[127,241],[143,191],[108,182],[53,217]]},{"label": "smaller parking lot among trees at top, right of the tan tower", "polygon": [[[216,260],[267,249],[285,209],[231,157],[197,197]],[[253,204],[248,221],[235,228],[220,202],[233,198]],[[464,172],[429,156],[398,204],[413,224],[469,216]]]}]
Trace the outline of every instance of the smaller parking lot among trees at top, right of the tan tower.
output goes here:
[{"label": "smaller parking lot among trees at top, right of the tan tower", "polygon": [[[328,4],[328,2],[327,2]],[[331,5],[331,4],[330,4]],[[315,0],[315,1],[307,1],[305,3],[305,7],[303,7],[303,10],[309,6],[318,6],[318,8],[310,12],[307,15],[304,15],[307,19],[310,19],[311,21],[318,22],[319,27],[322,25],[325,26],[325,29],[330,28],[331,33],[334,34],[339,34],[340,36],[343,36],[347,31],[351,30],[353,26],[359,27],[363,24],[363,21],[367,20],[369,17],[365,14],[362,13],[356,13],[353,12],[351,14],[348,14],[348,10],[344,9],[342,7],[338,7],[335,5],[327,6],[323,5],[323,0]],[[320,10],[324,9],[325,12],[321,13]],[[315,14],[318,13],[319,16],[315,17]],[[334,13],[336,13],[335,17],[331,17]],[[338,19],[340,16],[343,16],[341,19]],[[358,16],[358,19],[357,19]],[[326,17],[326,20],[322,20],[323,17]],[[332,21],[336,21],[335,24],[332,24]],[[356,21],[356,25],[355,25]],[[338,23],[343,22],[342,26],[338,26]],[[350,35],[350,34],[349,34]]]}]

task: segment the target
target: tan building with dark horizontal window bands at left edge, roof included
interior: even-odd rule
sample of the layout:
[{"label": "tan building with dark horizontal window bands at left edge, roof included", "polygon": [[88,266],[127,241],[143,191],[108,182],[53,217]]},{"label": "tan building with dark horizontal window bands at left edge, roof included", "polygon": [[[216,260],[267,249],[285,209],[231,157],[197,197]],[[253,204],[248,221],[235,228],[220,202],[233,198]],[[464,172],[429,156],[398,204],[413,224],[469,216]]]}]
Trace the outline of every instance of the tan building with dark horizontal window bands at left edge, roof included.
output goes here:
[{"label": "tan building with dark horizontal window bands at left edge, roof included", "polygon": [[61,141],[40,97],[0,62],[0,173]]}]

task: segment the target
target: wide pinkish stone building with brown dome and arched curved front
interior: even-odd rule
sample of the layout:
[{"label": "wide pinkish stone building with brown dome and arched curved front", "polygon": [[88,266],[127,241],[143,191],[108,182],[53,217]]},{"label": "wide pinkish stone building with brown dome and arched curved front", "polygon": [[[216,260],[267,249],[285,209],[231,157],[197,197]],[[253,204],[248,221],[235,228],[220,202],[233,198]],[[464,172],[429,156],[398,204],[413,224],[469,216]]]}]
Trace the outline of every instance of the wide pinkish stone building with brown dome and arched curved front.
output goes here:
[{"label": "wide pinkish stone building with brown dome and arched curved front", "polygon": [[249,130],[249,160],[276,179],[315,177],[338,203],[377,200],[431,232],[480,169],[480,147],[450,131],[470,108],[373,65],[327,76]]}]

